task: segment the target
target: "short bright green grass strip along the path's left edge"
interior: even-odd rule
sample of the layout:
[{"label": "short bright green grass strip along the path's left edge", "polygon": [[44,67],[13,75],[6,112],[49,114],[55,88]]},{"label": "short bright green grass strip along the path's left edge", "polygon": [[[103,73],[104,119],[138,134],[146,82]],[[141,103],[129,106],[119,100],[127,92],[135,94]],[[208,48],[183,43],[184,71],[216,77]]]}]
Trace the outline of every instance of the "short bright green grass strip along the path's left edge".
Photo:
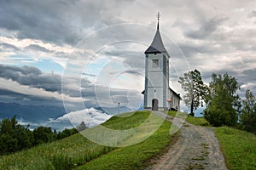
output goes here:
[{"label": "short bright green grass strip along the path's left edge", "polygon": [[[147,160],[160,153],[170,143],[170,122],[162,126],[143,142],[113,150],[108,155],[92,160],[79,169],[143,169]],[[174,137],[172,139],[175,139]]]}]

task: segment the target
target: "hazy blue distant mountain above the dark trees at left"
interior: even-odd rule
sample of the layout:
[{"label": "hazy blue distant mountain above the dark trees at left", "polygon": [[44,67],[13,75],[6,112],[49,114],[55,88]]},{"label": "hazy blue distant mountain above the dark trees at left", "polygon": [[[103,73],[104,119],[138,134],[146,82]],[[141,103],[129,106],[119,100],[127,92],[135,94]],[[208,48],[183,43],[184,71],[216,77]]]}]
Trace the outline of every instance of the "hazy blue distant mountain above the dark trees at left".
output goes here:
[{"label": "hazy blue distant mountain above the dark trees at left", "polygon": [[51,118],[57,118],[66,113],[61,106],[44,105],[20,105],[17,103],[0,102],[0,119],[17,116],[22,117],[26,122],[45,122]]}]

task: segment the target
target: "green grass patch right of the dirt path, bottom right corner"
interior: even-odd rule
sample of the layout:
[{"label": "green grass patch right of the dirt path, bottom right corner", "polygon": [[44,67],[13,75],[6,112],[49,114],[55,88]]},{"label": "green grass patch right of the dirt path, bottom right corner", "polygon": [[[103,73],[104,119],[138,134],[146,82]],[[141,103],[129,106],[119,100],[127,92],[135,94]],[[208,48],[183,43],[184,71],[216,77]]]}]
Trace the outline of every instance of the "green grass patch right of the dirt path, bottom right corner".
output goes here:
[{"label": "green grass patch right of the dirt path, bottom right corner", "polygon": [[215,129],[229,169],[256,169],[256,136],[231,127]]}]

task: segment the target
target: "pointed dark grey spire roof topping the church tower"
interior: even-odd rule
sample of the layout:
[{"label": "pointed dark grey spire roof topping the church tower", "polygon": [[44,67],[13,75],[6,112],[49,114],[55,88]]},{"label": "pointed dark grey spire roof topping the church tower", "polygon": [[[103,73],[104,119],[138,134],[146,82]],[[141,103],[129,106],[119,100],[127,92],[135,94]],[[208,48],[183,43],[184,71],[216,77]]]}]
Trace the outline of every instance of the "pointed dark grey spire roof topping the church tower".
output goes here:
[{"label": "pointed dark grey spire roof topping the church tower", "polygon": [[157,30],[155,32],[153,42],[151,43],[149,48],[145,51],[145,54],[158,54],[158,53],[166,52],[166,48],[160,36],[159,19],[160,19],[160,14],[158,13],[157,14]]}]

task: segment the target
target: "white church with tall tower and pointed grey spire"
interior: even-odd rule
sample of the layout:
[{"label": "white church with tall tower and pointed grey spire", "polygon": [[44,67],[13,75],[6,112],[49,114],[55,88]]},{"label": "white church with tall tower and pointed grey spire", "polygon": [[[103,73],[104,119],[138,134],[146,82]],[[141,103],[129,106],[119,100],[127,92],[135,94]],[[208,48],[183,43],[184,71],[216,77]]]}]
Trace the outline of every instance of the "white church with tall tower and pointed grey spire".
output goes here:
[{"label": "white church with tall tower and pointed grey spire", "polygon": [[159,19],[157,15],[157,30],[153,42],[145,54],[145,89],[144,110],[148,111],[179,111],[180,94],[169,87],[169,59],[160,36]]}]

